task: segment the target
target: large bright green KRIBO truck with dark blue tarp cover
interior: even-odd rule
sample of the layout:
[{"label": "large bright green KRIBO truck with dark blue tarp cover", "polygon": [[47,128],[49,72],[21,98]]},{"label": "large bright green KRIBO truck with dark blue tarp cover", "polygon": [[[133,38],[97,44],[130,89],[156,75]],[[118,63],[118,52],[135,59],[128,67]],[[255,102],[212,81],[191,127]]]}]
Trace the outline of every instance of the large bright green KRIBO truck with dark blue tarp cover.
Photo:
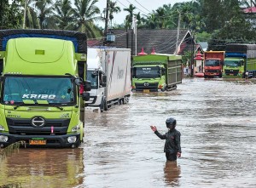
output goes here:
[{"label": "large bright green KRIBO truck with dark blue tarp cover", "polygon": [[86,41],[77,31],[0,31],[1,147],[21,140],[27,146],[80,145],[81,100],[90,99]]}]

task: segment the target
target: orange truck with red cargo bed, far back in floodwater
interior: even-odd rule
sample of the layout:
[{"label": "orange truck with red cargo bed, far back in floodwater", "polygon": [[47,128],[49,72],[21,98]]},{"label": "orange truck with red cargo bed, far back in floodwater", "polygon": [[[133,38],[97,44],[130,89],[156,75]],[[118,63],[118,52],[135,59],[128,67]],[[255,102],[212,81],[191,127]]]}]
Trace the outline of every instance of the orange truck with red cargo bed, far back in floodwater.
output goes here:
[{"label": "orange truck with red cargo bed, far back in floodwater", "polygon": [[204,77],[222,77],[224,51],[206,51],[204,57]]}]

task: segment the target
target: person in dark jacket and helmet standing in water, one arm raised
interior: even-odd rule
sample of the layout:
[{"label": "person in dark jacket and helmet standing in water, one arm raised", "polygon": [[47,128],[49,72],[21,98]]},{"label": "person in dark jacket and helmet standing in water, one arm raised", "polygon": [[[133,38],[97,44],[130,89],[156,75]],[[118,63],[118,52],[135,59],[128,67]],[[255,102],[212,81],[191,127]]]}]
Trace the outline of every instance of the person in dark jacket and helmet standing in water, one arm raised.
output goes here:
[{"label": "person in dark jacket and helmet standing in water, one arm raised", "polygon": [[169,117],[166,119],[166,127],[169,129],[166,134],[160,134],[155,126],[150,126],[161,140],[166,140],[165,149],[166,160],[176,161],[177,157],[181,157],[180,132],[177,131],[176,119]]}]

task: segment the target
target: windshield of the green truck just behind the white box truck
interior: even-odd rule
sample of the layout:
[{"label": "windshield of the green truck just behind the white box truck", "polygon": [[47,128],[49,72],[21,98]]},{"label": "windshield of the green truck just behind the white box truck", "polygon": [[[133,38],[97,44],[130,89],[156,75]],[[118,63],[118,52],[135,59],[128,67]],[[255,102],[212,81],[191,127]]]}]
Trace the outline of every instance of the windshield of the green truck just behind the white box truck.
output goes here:
[{"label": "windshield of the green truck just behind the white box truck", "polygon": [[135,78],[155,78],[160,77],[160,67],[135,67]]}]

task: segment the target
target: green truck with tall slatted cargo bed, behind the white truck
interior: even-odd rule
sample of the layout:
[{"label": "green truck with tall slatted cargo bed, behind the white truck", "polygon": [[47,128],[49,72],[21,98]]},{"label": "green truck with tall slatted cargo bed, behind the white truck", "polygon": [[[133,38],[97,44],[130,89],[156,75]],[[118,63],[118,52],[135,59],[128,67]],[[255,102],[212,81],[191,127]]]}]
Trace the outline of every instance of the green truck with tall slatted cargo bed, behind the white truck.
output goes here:
[{"label": "green truck with tall slatted cargo bed, behind the white truck", "polygon": [[182,83],[182,56],[146,54],[132,60],[132,91],[168,91]]}]

